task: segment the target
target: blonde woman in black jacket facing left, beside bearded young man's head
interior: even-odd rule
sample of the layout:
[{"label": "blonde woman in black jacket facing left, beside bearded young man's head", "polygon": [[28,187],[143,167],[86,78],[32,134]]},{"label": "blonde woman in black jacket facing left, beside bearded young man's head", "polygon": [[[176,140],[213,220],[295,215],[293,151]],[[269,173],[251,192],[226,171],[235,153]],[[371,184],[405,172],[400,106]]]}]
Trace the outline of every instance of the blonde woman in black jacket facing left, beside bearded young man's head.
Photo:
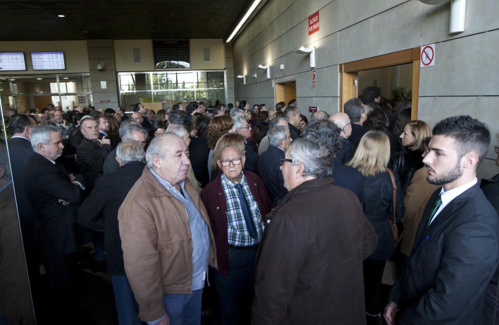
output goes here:
[{"label": "blonde woman in black jacket facing left, beside bearded young man's head", "polygon": [[411,183],[414,172],[423,167],[424,140],[431,138],[430,126],[421,120],[412,120],[406,123],[400,135],[402,151],[395,153],[390,162],[390,168],[399,175],[402,193]]}]

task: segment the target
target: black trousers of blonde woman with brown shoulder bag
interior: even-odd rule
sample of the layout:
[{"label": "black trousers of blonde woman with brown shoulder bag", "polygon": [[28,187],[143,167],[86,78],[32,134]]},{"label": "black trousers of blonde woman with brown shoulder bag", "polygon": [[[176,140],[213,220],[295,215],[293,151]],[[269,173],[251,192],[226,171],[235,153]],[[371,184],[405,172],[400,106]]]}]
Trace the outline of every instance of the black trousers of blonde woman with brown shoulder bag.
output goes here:
[{"label": "black trousers of blonde woman with brown shoulder bag", "polygon": [[364,261],[364,290],[366,298],[366,312],[371,315],[382,313],[384,301],[381,300],[381,279],[386,260]]}]

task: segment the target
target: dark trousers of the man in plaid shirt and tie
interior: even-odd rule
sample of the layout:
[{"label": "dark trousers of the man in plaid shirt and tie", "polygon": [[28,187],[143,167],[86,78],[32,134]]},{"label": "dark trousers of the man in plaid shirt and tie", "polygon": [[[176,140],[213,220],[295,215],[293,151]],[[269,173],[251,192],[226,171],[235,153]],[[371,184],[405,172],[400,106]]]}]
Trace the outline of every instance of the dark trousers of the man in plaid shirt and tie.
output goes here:
[{"label": "dark trousers of the man in plaid shirt and tie", "polygon": [[257,251],[257,248],[239,250],[229,247],[229,274],[222,275],[214,270],[222,325],[250,323],[254,296],[253,270]]}]

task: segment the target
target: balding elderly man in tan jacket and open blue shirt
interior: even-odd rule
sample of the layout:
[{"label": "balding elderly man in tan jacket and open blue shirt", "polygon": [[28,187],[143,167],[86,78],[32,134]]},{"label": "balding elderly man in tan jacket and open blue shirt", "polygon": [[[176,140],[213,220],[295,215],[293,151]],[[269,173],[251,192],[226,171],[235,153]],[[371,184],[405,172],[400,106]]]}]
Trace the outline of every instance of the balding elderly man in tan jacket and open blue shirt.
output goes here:
[{"label": "balding elderly man in tan jacket and open blue shirt", "polygon": [[208,214],[186,179],[188,156],[180,137],[155,137],[118,212],[125,272],[148,325],[199,325],[208,264],[217,267]]}]

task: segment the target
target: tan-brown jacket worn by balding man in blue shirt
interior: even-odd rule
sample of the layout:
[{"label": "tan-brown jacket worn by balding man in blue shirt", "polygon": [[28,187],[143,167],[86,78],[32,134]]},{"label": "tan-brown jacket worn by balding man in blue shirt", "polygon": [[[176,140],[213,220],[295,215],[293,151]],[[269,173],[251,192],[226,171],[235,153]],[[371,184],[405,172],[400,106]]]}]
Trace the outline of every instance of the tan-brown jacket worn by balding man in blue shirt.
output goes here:
[{"label": "tan-brown jacket worn by balding man in blue shirt", "polygon": [[[186,178],[191,196],[210,231],[210,265],[217,267],[215,238],[199,193]],[[192,240],[184,205],[148,168],[130,189],[118,212],[125,272],[142,321],[165,314],[165,294],[191,294]]]}]

